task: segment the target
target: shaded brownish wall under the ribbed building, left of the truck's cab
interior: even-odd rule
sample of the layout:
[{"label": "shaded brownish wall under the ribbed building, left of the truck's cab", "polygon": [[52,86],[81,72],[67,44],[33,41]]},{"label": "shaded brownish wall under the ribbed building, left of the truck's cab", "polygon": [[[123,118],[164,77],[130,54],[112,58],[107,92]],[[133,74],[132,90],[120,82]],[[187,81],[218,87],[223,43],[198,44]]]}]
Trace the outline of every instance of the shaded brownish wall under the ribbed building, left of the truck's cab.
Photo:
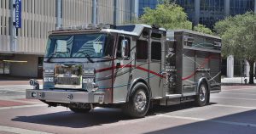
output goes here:
[{"label": "shaded brownish wall under the ribbed building, left of the truck's cab", "polygon": [[16,54],[13,60],[27,61],[26,63],[11,63],[10,75],[38,77],[38,56]]}]

